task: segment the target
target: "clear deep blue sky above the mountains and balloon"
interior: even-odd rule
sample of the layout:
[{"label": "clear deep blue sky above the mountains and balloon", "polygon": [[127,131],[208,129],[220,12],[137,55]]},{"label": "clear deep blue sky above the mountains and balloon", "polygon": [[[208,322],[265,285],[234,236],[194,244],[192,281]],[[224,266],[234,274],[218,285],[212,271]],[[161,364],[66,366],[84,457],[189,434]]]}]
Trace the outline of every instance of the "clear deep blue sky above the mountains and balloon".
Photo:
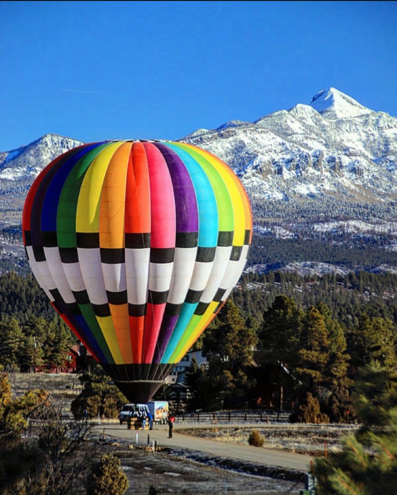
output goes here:
[{"label": "clear deep blue sky above the mountains and balloon", "polygon": [[0,151],[179,139],[334,87],[397,116],[396,1],[1,1]]}]

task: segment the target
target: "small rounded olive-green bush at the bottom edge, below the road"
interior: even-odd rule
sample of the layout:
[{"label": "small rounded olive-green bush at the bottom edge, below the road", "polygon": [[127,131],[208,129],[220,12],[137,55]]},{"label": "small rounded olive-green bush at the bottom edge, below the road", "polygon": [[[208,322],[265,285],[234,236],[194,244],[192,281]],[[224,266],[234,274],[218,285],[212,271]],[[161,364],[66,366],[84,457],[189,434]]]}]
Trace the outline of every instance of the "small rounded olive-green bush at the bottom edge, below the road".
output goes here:
[{"label": "small rounded olive-green bush at the bottom edge, below the road", "polygon": [[123,495],[128,479],[113,454],[103,454],[89,476],[87,493],[90,495]]}]

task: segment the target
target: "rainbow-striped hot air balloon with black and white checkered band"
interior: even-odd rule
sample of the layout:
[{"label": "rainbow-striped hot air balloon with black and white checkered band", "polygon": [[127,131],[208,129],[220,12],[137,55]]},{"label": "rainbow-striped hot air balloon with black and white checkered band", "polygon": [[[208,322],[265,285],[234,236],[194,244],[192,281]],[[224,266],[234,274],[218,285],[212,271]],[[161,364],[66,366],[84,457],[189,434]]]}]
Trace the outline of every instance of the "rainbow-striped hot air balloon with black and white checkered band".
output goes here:
[{"label": "rainbow-striped hot air balloon with black and white checkered band", "polygon": [[239,178],[209,152],[103,141],[43,169],[22,230],[55,310],[128,400],[146,402],[236,285],[252,214]]}]

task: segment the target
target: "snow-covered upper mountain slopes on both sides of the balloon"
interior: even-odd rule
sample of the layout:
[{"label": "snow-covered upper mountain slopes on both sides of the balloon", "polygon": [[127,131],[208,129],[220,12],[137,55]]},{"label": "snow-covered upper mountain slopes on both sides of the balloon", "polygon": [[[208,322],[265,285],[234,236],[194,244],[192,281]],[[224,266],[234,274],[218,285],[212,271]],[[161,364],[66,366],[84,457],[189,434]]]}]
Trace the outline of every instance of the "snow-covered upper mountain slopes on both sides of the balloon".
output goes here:
[{"label": "snow-covered upper mountain slopes on both sides of the balloon", "polygon": [[[217,129],[199,129],[180,141],[212,152],[233,168],[248,191],[254,218],[285,220],[302,209],[339,215],[356,205],[381,205],[383,215],[397,199],[397,118],[335,88],[320,91],[309,104],[254,122],[232,120]],[[38,172],[80,144],[48,134],[0,153],[2,219],[20,217]]]}]

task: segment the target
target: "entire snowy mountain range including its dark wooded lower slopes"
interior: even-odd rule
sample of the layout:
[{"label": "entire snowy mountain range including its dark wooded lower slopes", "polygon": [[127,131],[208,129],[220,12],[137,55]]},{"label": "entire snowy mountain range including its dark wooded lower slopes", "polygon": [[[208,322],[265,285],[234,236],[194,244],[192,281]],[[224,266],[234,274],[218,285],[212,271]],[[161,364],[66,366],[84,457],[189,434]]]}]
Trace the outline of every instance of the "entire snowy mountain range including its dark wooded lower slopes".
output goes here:
[{"label": "entire snowy mountain range including its dark wooded lower slopes", "polygon": [[[316,271],[336,270],[323,262],[336,263],[338,270],[351,269],[352,263],[357,270],[397,268],[396,117],[330,88],[310,103],[254,122],[232,120],[216,129],[198,129],[179,141],[213,153],[241,178],[259,246],[255,270],[295,270],[295,262],[302,261]],[[40,170],[81,144],[47,134],[0,153],[0,224],[19,224],[27,191]],[[0,250],[7,253],[10,234],[2,232]],[[277,238],[281,247],[259,261],[269,238]],[[321,254],[324,245],[335,246],[332,254]],[[23,252],[14,241],[9,256],[16,248]]]}]

